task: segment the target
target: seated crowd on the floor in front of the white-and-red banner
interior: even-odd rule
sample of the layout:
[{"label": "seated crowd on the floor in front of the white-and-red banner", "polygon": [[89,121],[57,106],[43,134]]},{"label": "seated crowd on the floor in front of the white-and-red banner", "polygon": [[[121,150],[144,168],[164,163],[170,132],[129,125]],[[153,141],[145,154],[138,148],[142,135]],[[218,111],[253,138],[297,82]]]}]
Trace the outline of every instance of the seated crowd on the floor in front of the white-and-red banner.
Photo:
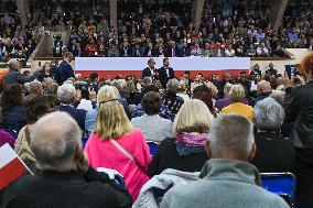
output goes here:
[{"label": "seated crowd on the floor in front of the white-and-red banner", "polygon": [[[69,55],[65,55],[65,59]],[[250,75],[242,72],[236,77],[228,73],[222,78],[217,74],[209,77],[199,74],[193,80],[190,72],[185,72],[182,77],[170,79],[166,88],[158,80],[162,79],[160,74],[142,79],[134,76],[100,79],[91,73],[90,77],[83,78],[72,74],[69,66],[64,67],[71,57],[58,67],[47,63],[44,70],[36,70],[29,77],[20,73],[18,62],[10,61],[6,85],[1,86],[1,144],[9,142],[14,146],[24,163],[46,180],[21,177],[4,191],[4,207],[39,202],[42,201],[40,196],[46,195],[53,196],[53,200],[57,189],[37,193],[36,201],[32,197],[35,191],[30,190],[37,190],[36,183],[46,188],[53,180],[57,180],[53,183],[55,188],[69,188],[64,178],[76,178],[77,174],[80,174],[79,188],[85,184],[90,186],[90,191],[97,188],[100,195],[105,191],[101,190],[104,184],[110,187],[105,191],[108,198],[97,199],[104,200],[104,205],[115,200],[120,204],[110,207],[129,207],[131,201],[141,199],[140,191],[150,178],[169,168],[183,173],[202,171],[203,179],[218,178],[215,174],[227,172],[226,175],[236,178],[234,180],[249,178],[248,184],[256,184],[257,179],[250,179],[258,169],[291,172],[298,178],[296,201],[305,207],[312,202],[309,196],[313,184],[310,177],[312,111],[307,108],[312,102],[312,53],[304,57],[303,74],[296,74],[293,80],[270,64],[265,73],[256,65]],[[64,73],[64,79],[56,80],[52,68],[56,74]],[[11,130],[18,132],[15,139]],[[87,158],[79,142],[83,138],[87,139],[84,144]],[[159,143],[153,157],[147,141]],[[245,176],[238,176],[226,168],[228,166]],[[95,172],[99,167],[121,174],[127,189],[118,187],[108,175]],[[19,190],[19,186],[25,188]],[[197,184],[191,187],[196,189]],[[239,185],[234,182],[234,187]],[[176,186],[165,194],[162,206],[179,207],[176,199],[185,195],[182,189]],[[28,195],[21,194],[26,190]],[[251,187],[249,191],[256,190]],[[90,196],[82,195],[78,201],[86,202],[93,191]],[[282,199],[265,195],[269,197],[269,206],[273,202],[274,207],[287,207]],[[193,193],[188,197],[192,196],[197,201],[199,195]],[[231,196],[225,197],[233,200]],[[66,205],[77,205],[73,196],[63,198]],[[216,205],[222,205],[218,202],[222,201]]]}]

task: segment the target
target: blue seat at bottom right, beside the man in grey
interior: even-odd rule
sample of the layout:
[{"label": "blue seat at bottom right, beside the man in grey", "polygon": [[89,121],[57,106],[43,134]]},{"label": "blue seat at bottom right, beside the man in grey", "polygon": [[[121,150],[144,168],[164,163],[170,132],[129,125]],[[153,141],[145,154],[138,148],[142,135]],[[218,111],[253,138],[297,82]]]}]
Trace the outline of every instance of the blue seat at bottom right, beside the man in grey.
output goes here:
[{"label": "blue seat at bottom right, beside the man in grey", "polygon": [[262,187],[294,206],[296,178],[292,173],[261,173]]}]

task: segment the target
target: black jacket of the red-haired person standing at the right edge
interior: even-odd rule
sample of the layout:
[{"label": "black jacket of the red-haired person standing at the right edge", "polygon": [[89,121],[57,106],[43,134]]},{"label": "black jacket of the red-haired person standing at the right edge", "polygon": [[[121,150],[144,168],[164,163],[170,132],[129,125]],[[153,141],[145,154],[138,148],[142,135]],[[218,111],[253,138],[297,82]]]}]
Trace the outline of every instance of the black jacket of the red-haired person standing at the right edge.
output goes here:
[{"label": "black jacket of the red-haired person standing at the right edge", "polygon": [[285,121],[294,121],[290,138],[296,147],[313,149],[313,81],[285,94]]}]

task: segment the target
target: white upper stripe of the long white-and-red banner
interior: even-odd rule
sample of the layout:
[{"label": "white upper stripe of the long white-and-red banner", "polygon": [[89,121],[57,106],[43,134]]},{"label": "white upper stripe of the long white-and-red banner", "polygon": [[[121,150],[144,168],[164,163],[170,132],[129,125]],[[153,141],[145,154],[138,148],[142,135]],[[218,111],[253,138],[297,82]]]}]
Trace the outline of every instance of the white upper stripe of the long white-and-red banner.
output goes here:
[{"label": "white upper stripe of the long white-and-red banner", "polygon": [[[149,57],[76,57],[75,70],[136,72],[147,67]],[[154,58],[156,68],[163,57]],[[249,57],[170,57],[174,70],[248,70]]]}]

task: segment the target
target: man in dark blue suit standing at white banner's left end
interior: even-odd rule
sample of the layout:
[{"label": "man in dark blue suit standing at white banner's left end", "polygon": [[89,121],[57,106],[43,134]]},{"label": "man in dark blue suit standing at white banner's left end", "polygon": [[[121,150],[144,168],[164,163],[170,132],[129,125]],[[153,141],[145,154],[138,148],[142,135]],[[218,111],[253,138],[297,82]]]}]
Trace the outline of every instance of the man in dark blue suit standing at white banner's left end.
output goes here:
[{"label": "man in dark blue suit standing at white banner's left end", "polygon": [[73,54],[71,52],[66,52],[64,54],[64,61],[58,66],[61,85],[71,77],[75,78],[74,70],[71,66],[72,59],[73,59]]}]

